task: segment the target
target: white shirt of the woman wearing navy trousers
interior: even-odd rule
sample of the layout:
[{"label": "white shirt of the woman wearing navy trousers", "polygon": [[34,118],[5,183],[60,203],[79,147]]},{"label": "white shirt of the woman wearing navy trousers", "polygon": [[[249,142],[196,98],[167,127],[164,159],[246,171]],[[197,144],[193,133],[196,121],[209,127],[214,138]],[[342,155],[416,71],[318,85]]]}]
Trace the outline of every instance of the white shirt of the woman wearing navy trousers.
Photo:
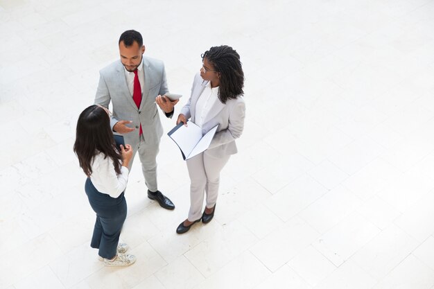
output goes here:
[{"label": "white shirt of the woman wearing navy trousers", "polygon": [[128,168],[121,166],[121,173],[117,175],[112,158],[104,158],[104,154],[100,152],[95,155],[92,162],[90,180],[98,192],[110,195],[112,198],[118,198],[127,186]]}]

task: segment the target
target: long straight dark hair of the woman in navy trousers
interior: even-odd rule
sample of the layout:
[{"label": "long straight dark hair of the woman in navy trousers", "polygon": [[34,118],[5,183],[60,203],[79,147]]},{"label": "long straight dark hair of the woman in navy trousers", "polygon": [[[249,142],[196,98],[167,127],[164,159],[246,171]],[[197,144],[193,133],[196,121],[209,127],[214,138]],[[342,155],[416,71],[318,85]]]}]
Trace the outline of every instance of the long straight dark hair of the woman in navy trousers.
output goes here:
[{"label": "long straight dark hair of the woman in navy trousers", "polygon": [[92,175],[94,156],[102,152],[113,161],[116,173],[121,173],[121,153],[116,149],[113,132],[110,129],[110,117],[102,107],[91,105],[78,116],[76,142],[73,151],[83,171]]}]

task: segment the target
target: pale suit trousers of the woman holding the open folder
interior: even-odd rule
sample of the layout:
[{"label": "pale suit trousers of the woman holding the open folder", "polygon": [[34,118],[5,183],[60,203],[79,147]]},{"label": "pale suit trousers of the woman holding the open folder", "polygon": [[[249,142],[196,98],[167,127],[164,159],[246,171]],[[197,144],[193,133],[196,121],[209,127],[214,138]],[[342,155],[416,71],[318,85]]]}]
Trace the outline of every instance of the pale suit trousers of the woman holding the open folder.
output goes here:
[{"label": "pale suit trousers of the woman holding the open folder", "polygon": [[207,194],[207,208],[214,207],[218,197],[220,171],[230,155],[214,157],[207,151],[186,160],[190,175],[190,211],[188,220],[193,222],[202,216],[204,193]]}]

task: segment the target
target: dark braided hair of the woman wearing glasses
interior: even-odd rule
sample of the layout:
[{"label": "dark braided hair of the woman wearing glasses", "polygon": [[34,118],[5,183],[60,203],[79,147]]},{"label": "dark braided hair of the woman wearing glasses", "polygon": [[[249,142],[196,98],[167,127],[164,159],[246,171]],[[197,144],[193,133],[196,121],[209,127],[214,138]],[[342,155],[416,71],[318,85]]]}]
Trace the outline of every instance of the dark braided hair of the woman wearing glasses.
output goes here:
[{"label": "dark braided hair of the woman wearing glasses", "polygon": [[202,54],[202,61],[204,58],[220,73],[218,99],[222,103],[244,94],[244,72],[240,55],[231,46],[213,46]]}]

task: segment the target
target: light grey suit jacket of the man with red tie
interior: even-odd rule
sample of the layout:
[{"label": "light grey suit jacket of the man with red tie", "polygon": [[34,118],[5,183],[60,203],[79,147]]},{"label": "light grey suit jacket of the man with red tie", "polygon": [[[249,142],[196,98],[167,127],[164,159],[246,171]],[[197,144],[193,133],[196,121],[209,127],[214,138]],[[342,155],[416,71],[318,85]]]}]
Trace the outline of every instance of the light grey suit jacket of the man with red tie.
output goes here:
[{"label": "light grey suit jacket of the man with red tie", "polygon": [[[139,138],[139,127],[141,124],[146,141],[158,145],[163,134],[163,127],[159,120],[155,98],[159,94],[163,95],[168,92],[166,71],[161,60],[145,56],[143,57],[143,66],[145,82],[140,108],[137,108],[128,90],[121,60],[117,60],[101,69],[95,104],[108,107],[110,100],[112,101],[113,116],[110,121],[112,129],[120,120],[132,121],[128,126],[136,128],[136,130],[128,134],[122,134],[125,143],[133,143],[134,137]],[[166,114],[168,117],[172,115],[173,112]]]}]

